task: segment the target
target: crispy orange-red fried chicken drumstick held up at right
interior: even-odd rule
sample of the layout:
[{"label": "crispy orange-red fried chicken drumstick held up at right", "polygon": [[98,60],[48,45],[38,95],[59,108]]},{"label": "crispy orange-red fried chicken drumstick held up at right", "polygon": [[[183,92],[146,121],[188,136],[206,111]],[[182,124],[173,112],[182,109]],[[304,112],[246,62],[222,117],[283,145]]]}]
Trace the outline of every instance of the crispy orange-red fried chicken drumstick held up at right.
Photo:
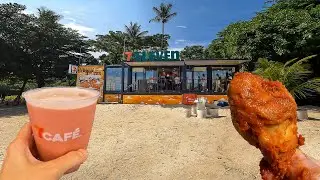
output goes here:
[{"label": "crispy orange-red fried chicken drumstick held up at right", "polygon": [[234,127],[264,156],[262,178],[287,179],[292,157],[304,143],[297,132],[294,98],[282,83],[246,72],[235,75],[228,98]]}]

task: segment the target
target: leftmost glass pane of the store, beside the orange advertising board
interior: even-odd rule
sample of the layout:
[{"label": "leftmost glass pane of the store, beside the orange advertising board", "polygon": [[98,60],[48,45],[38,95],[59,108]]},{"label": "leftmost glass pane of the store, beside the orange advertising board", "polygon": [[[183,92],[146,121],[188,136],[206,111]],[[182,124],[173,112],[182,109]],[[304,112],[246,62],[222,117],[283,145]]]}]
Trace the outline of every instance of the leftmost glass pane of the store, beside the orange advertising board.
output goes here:
[{"label": "leftmost glass pane of the store, beside the orange advertising board", "polygon": [[121,91],[121,67],[108,67],[106,70],[106,91]]}]

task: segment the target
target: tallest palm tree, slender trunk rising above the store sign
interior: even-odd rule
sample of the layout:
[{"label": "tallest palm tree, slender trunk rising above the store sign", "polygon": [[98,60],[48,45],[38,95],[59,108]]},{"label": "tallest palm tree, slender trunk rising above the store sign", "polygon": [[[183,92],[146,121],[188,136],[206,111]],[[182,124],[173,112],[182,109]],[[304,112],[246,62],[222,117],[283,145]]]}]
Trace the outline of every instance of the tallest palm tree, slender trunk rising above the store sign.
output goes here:
[{"label": "tallest palm tree, slender trunk rising above the store sign", "polygon": [[161,22],[162,23],[162,41],[161,41],[161,49],[163,47],[163,36],[164,36],[164,24],[171,20],[173,17],[177,15],[176,12],[171,13],[172,4],[164,4],[161,3],[159,7],[153,7],[153,11],[156,13],[156,16],[149,21],[151,22]]}]

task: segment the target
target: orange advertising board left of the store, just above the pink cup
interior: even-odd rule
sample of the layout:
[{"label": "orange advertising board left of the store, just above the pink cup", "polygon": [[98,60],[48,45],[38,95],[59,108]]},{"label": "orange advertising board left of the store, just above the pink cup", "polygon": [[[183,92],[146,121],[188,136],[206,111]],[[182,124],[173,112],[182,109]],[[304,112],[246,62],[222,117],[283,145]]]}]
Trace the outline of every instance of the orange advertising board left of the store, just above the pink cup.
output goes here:
[{"label": "orange advertising board left of the store, just above the pink cup", "polygon": [[100,91],[99,102],[103,98],[104,66],[79,66],[77,87],[91,88]]}]

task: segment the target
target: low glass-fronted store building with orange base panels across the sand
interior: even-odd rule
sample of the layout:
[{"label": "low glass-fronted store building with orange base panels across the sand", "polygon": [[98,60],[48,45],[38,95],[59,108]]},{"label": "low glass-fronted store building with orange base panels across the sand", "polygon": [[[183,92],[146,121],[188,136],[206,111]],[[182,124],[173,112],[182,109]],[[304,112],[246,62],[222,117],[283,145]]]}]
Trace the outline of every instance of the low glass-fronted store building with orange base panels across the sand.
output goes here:
[{"label": "low glass-fronted store building with orange base panels across the sand", "polygon": [[196,97],[209,103],[226,93],[234,73],[248,60],[177,60],[80,66],[78,86],[100,88],[101,100],[123,104],[188,104]]}]

